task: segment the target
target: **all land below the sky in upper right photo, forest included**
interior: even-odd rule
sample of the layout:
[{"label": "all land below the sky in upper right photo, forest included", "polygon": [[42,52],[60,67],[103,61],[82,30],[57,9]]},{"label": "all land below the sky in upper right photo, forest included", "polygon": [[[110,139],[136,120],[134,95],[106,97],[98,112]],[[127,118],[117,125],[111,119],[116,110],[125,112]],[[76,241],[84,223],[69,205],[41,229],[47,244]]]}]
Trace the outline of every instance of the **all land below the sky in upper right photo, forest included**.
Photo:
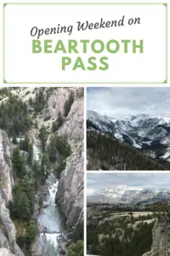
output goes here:
[{"label": "all land below the sky in upper right photo, forest included", "polygon": [[169,170],[168,114],[111,118],[88,111],[87,128],[88,170]]}]

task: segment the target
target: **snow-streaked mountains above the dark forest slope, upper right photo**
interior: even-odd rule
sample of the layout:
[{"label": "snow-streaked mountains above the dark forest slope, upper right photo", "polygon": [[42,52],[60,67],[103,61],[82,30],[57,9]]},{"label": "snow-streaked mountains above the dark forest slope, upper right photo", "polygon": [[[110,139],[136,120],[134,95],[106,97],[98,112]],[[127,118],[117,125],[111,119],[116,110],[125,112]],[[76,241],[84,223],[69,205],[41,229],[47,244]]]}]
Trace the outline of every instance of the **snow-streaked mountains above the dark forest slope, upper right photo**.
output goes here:
[{"label": "snow-streaked mountains above the dark forest slope, upper right photo", "polygon": [[112,118],[88,110],[87,119],[88,129],[109,132],[153,159],[170,162],[170,114]]}]

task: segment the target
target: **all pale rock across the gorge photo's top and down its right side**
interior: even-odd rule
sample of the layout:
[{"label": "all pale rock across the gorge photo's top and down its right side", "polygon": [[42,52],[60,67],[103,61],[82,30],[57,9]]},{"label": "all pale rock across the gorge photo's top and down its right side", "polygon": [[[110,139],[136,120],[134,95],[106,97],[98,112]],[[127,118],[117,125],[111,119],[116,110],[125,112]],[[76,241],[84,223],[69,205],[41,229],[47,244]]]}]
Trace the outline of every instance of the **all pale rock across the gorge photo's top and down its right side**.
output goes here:
[{"label": "all pale rock across the gorge photo's top and down its right side", "polygon": [[[30,99],[35,99],[37,90],[13,90],[12,93],[20,96],[23,102],[29,102]],[[64,117],[65,102],[69,99],[71,91],[74,93],[74,102],[71,105],[70,112]],[[65,170],[61,173],[56,201],[65,216],[68,237],[71,239],[71,237],[75,236],[75,232],[79,230],[83,219],[83,88],[45,88],[42,90],[42,94],[45,103],[41,111],[36,115],[37,128],[31,127],[31,130],[28,131],[28,136],[31,138],[32,143],[40,146],[38,134],[39,129],[44,125],[49,134],[48,145],[51,127],[56,121],[59,112],[63,115],[64,122],[57,133],[68,137],[72,154],[67,158]],[[32,106],[29,108],[32,119],[35,119]],[[73,232],[73,230],[75,231]]]}]

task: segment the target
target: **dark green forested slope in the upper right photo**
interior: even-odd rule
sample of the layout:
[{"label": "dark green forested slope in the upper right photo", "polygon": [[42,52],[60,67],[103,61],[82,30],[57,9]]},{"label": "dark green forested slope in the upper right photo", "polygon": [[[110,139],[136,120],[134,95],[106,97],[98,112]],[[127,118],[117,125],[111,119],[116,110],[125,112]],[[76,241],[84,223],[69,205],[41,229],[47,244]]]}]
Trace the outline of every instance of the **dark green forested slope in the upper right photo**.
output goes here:
[{"label": "dark green forested slope in the upper right photo", "polygon": [[139,150],[112,136],[87,133],[88,170],[164,170]]}]

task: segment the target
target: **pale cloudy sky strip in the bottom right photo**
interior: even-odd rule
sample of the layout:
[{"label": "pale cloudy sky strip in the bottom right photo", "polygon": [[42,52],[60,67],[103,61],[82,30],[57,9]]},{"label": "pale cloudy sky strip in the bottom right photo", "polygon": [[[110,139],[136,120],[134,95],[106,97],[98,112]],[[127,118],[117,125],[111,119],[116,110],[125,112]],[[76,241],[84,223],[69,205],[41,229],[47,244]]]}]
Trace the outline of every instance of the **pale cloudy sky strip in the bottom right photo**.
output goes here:
[{"label": "pale cloudy sky strip in the bottom right photo", "polygon": [[88,195],[118,186],[170,189],[170,173],[88,173]]}]

